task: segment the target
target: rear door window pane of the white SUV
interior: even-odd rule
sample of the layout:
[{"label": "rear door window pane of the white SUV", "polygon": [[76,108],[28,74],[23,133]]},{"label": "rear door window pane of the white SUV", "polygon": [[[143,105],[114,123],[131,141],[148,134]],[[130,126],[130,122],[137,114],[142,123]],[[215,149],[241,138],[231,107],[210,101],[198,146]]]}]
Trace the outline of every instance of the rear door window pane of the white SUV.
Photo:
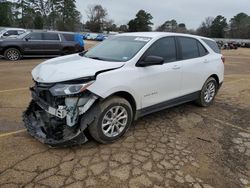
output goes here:
[{"label": "rear door window pane of the white SUV", "polygon": [[197,41],[188,37],[178,37],[182,59],[191,59],[200,57]]}]

